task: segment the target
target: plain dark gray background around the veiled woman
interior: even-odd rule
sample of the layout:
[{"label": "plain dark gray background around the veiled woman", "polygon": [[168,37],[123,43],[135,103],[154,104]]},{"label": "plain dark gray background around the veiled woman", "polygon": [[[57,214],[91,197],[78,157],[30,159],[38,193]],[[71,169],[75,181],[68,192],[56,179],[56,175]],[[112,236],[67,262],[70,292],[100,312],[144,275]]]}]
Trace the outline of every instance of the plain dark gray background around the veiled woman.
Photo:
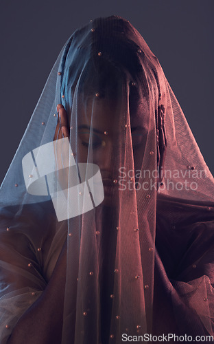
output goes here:
[{"label": "plain dark gray background around the veiled woman", "polygon": [[117,14],[158,57],[211,172],[213,162],[213,0],[1,0],[0,183],[47,76],[71,33]]}]

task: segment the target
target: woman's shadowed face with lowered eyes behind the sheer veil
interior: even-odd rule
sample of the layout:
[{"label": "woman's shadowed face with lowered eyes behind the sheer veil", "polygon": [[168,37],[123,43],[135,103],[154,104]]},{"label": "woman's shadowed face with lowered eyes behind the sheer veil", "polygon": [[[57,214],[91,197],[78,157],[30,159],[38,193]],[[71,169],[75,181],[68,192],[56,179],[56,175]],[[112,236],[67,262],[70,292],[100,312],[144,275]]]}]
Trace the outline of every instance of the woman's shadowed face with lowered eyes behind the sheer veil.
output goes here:
[{"label": "woman's shadowed face with lowered eyes behind the sheer veil", "polygon": [[[134,114],[131,112],[134,111]],[[121,107],[109,98],[91,98],[78,107],[78,151],[76,162],[93,162],[99,166],[104,185],[104,204],[114,204],[119,193],[121,161],[125,154],[134,158],[134,170],[141,169],[147,125],[143,104],[130,107],[130,128],[126,126]],[[126,116],[128,118],[128,116]],[[124,128],[125,127],[125,128]],[[126,139],[125,139],[126,132]],[[72,144],[71,144],[72,146]],[[90,158],[92,157],[92,159]],[[127,157],[126,157],[127,159]]]}]

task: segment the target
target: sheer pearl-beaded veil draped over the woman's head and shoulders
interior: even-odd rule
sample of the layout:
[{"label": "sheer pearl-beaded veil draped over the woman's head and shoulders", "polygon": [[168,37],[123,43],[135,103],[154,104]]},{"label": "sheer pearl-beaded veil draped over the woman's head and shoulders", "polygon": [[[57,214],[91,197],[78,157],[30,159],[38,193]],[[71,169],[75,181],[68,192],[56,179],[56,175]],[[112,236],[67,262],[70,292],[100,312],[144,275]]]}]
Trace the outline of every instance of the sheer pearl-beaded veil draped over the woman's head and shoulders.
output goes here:
[{"label": "sheer pearl-beaded veil draped over the woman's head and shoulders", "polygon": [[[53,144],[58,104],[66,156]],[[90,184],[99,171],[104,199]],[[139,32],[117,16],[76,30],[1,185],[1,343],[42,296],[64,242],[63,344],[213,335],[213,197],[213,176]]]}]

